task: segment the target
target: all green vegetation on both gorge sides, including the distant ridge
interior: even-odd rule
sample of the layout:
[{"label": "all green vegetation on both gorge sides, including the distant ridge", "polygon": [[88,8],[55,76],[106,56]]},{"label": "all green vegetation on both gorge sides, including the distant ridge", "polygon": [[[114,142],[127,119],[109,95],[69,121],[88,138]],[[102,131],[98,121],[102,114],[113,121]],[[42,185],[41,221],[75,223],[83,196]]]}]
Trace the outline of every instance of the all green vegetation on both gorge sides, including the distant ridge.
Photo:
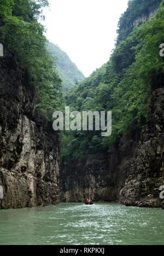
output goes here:
[{"label": "all green vegetation on both gorge sides, including the distant ridge", "polygon": [[[62,160],[83,159],[88,154],[107,152],[110,146],[149,120],[152,90],[163,86],[164,1],[154,18],[140,27],[131,26],[138,15],[147,15],[160,0],[133,0],[119,22],[118,44],[108,63],[83,82],[78,69],[57,46],[48,44],[42,8],[46,0],[0,0],[0,42],[4,45],[1,61],[15,61],[26,74],[29,86],[37,91],[37,108],[50,120],[52,112],[62,109],[61,75],[66,104],[72,110],[112,110],[113,132],[101,137],[99,131],[61,133]],[[48,46],[47,46],[48,44]],[[49,51],[57,57],[57,64]],[[57,71],[55,70],[57,66]],[[77,84],[77,86],[74,86]]]}]

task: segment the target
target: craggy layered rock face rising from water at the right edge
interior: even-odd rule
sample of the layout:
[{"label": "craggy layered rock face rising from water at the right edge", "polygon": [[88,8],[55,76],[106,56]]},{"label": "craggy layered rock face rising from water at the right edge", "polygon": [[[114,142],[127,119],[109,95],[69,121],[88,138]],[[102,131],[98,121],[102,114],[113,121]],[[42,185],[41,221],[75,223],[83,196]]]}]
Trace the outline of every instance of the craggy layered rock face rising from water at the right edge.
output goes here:
[{"label": "craggy layered rock face rising from water at the right edge", "polygon": [[125,205],[162,207],[164,184],[164,88],[153,92],[151,119],[142,127],[131,158],[121,162],[123,181],[119,198]]}]

